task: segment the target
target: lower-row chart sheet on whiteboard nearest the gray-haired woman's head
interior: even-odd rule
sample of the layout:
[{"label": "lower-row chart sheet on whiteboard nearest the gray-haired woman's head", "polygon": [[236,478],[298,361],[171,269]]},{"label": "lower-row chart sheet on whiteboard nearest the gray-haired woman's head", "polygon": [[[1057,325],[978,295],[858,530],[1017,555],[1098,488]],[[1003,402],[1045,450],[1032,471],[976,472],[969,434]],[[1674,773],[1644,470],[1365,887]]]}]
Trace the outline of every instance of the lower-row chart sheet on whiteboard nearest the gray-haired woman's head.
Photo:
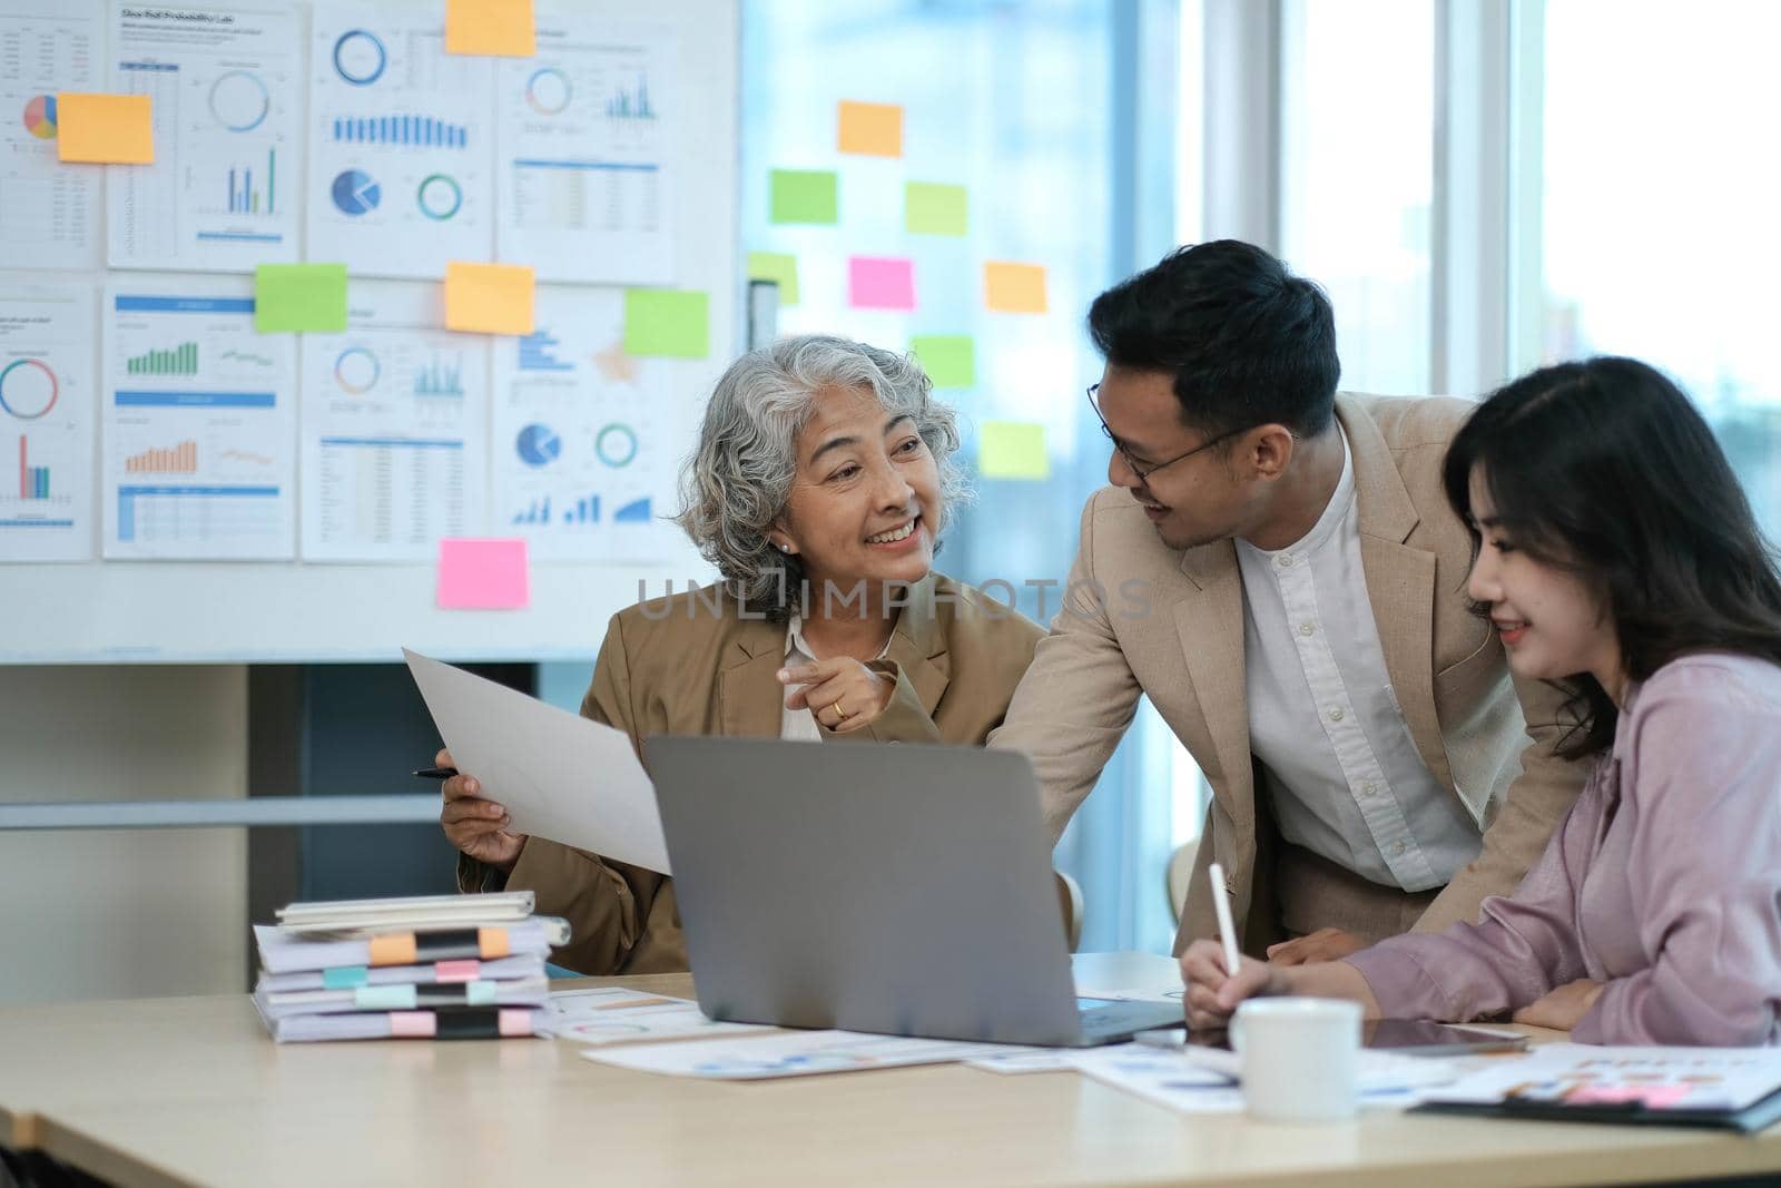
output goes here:
[{"label": "lower-row chart sheet on whiteboard nearest the gray-haired woman's head", "polygon": [[625,354],[623,317],[616,290],[545,285],[534,333],[493,344],[490,527],[536,557],[671,556],[691,413],[673,399],[673,363]]}]

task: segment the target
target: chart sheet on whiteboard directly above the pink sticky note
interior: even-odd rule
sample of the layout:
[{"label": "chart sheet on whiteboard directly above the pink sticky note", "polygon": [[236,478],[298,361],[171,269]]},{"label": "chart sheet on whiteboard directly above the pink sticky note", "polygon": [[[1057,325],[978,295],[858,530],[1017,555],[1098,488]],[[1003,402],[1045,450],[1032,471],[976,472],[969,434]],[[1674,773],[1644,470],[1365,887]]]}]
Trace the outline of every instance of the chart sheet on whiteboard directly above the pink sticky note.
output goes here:
[{"label": "chart sheet on whiteboard directly above the pink sticky note", "polygon": [[351,281],[347,331],[301,340],[303,559],[431,561],[481,531],[488,338],[438,328],[438,285]]}]

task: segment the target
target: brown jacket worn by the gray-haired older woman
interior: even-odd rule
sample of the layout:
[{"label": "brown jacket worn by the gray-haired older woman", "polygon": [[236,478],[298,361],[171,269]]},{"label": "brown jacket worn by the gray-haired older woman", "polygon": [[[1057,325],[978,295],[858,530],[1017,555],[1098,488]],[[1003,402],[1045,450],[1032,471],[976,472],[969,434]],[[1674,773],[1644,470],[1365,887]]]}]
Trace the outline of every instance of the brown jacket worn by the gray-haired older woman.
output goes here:
[{"label": "brown jacket worn by the gray-haired older woman", "polygon": [[[718,586],[639,602],[613,616],[582,698],[584,718],[616,727],[645,755],[652,734],[778,737],[785,691],[785,625],[743,618]],[[703,602],[698,597],[703,595]],[[980,746],[1003,720],[1044,631],[949,577],[910,588],[885,659],[896,693],[871,725],[825,741],[955,743]],[[463,891],[493,889],[499,875],[467,857]],[[568,917],[573,939],[552,955],[586,974],[686,969],[673,880],[584,850],[533,837],[506,878],[538,910]]]}]

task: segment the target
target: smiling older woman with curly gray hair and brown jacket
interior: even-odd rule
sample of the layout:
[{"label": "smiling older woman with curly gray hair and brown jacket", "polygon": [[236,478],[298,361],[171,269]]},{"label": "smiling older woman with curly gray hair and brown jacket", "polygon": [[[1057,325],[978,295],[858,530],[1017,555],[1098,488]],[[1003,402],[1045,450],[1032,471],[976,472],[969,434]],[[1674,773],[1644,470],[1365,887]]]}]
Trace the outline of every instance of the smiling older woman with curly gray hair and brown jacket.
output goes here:
[{"label": "smiling older woman with curly gray hair and brown jacket", "polygon": [[[825,335],[736,360],[679,517],[721,581],[614,614],[581,712],[639,752],[654,734],[981,745],[1044,632],[931,570],[967,495],[956,449],[914,360]],[[463,891],[529,889],[570,919],[559,964],[686,969],[666,875],[508,832],[470,775],[445,782],[440,823]]]}]

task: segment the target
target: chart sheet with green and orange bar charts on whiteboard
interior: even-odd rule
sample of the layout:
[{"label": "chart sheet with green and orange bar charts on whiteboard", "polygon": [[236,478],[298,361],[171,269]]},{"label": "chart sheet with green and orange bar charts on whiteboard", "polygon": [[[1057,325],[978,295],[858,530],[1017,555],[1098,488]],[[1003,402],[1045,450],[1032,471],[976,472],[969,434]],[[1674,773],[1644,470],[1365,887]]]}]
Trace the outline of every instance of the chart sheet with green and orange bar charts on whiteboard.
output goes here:
[{"label": "chart sheet with green and orange bar charts on whiteboard", "polygon": [[296,342],[253,330],[253,280],[105,290],[107,557],[296,556]]}]

